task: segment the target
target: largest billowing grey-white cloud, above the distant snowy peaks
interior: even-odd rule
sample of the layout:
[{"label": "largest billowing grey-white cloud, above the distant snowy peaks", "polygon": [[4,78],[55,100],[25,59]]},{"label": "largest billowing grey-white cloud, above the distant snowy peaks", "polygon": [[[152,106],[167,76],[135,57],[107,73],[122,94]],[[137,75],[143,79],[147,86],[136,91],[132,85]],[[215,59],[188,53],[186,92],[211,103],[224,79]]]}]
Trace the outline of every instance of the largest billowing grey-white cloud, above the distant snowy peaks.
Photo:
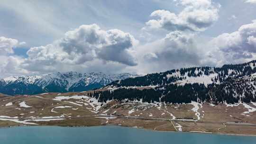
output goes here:
[{"label": "largest billowing grey-white cloud, above the distant snowy peaks", "polygon": [[[133,47],[138,41],[118,29],[102,30],[98,25],[82,25],[65,33],[52,44],[32,47],[22,66],[30,71],[63,69],[62,66],[86,65],[95,62],[137,65]],[[98,61],[97,61],[98,62]]]}]

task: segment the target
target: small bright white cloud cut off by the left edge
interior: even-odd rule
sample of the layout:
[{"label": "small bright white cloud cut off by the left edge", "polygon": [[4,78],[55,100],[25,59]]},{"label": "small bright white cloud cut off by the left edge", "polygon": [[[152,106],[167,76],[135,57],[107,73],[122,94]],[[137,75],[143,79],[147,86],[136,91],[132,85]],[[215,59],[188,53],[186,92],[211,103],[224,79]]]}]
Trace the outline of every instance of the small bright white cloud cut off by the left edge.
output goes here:
[{"label": "small bright white cloud cut off by the left edge", "polygon": [[18,40],[0,36],[0,55],[13,54],[13,48],[18,45]]}]

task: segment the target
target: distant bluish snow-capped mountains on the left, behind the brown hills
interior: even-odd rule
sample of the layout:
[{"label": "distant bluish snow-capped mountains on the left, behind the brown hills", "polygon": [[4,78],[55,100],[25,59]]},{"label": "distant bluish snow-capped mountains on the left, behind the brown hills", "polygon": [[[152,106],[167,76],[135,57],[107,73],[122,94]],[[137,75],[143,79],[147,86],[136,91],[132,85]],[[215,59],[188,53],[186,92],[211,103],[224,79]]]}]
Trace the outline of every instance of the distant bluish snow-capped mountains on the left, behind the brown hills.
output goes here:
[{"label": "distant bluish snow-capped mountains on the left, behind the brown hills", "polygon": [[28,87],[27,89],[29,89],[29,87],[31,86],[34,86],[40,88],[41,90],[39,91],[45,92],[84,91],[103,87],[113,81],[137,76],[138,75],[130,73],[107,75],[102,72],[55,72],[37,76],[11,76],[4,78],[1,81],[5,87],[5,90],[2,90],[2,92],[10,95],[15,95],[35,94],[35,92],[24,93],[20,90],[17,90],[17,88],[15,88],[15,85],[24,85],[24,87]]}]

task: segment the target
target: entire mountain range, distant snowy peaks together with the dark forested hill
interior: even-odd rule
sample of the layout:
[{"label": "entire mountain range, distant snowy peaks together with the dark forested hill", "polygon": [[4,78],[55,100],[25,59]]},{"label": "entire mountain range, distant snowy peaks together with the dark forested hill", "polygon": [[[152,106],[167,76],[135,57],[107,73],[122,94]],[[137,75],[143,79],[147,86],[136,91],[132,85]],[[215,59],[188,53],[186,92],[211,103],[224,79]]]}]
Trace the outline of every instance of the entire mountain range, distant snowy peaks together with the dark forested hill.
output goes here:
[{"label": "entire mountain range, distant snowy peaks together with the dark forested hill", "polygon": [[0,80],[0,93],[9,95],[85,91],[106,102],[111,99],[168,103],[256,102],[256,61],[222,67],[191,67],[138,76],[129,73],[56,72]]}]

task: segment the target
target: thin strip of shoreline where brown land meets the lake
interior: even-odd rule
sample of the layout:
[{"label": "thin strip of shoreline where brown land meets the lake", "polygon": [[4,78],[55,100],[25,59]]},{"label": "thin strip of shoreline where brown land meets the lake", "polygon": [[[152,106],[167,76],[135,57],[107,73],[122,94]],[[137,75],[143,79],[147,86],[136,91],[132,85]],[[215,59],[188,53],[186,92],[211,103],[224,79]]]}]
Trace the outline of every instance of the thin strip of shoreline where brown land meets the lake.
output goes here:
[{"label": "thin strip of shoreline where brown land meets the lake", "polygon": [[[96,126],[61,126],[61,125],[20,125],[20,126],[0,126],[1,128],[16,128],[16,127],[22,127],[22,126],[49,126],[49,127],[96,127]],[[256,136],[256,135],[249,135],[249,134],[226,134],[226,133],[212,133],[212,132],[196,132],[196,131],[190,131],[190,132],[185,132],[185,131],[160,131],[160,130],[154,130],[154,129],[146,129],[146,128],[139,128],[139,127],[132,127],[132,126],[120,126],[120,125],[100,125],[100,126],[116,126],[116,127],[126,127],[126,128],[137,128],[137,129],[142,129],[146,131],[152,131],[152,132],[171,132],[171,133],[190,133],[190,134],[204,134],[204,135],[227,135],[227,136]]]}]

